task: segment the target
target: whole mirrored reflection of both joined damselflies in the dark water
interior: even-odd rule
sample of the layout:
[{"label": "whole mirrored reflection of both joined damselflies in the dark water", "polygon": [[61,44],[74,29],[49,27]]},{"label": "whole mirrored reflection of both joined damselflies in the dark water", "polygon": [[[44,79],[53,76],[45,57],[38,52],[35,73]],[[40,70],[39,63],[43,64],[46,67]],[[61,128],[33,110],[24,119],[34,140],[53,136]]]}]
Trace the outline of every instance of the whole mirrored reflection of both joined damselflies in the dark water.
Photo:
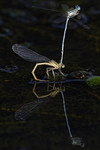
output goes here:
[{"label": "whole mirrored reflection of both joined damselflies in the dark water", "polygon": [[33,87],[33,93],[38,98],[38,100],[27,103],[27,104],[23,105],[22,107],[20,107],[15,112],[15,119],[16,120],[28,119],[32,115],[33,111],[36,110],[43,102],[47,102],[48,100],[50,100],[50,97],[55,97],[58,93],[61,93],[62,100],[63,100],[64,114],[65,114],[66,124],[67,124],[67,128],[68,128],[69,136],[71,139],[71,143],[72,143],[72,145],[77,145],[77,146],[80,146],[81,148],[84,148],[85,145],[84,145],[82,139],[79,137],[73,137],[72,133],[71,133],[71,128],[70,128],[67,113],[66,113],[65,97],[64,97],[64,93],[63,93],[65,91],[65,87],[64,88],[62,88],[62,86],[56,87],[55,83],[54,83],[53,87],[52,88],[51,87],[52,87],[51,85],[49,85],[49,84],[47,85],[47,91],[50,91],[49,94],[39,96],[36,92],[36,82],[35,82],[34,87]]}]

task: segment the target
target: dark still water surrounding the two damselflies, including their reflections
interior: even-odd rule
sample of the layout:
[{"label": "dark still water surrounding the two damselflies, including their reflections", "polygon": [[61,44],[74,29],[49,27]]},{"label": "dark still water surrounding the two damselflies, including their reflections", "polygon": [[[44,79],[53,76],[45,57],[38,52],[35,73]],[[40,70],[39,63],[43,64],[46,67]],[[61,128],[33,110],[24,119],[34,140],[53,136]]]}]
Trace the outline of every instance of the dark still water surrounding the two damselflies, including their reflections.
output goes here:
[{"label": "dark still water surrounding the two damselflies, including their reflections", "polygon": [[[56,2],[53,8],[60,9],[62,3],[80,5],[79,18],[90,27],[85,30],[70,21],[63,71],[93,68],[100,75],[99,0]],[[48,1],[0,0],[0,150],[98,150],[100,88],[85,81],[35,84],[31,75],[35,64],[12,51],[12,45],[19,43],[60,60],[64,24],[54,25],[54,13],[33,9],[33,4],[49,5]],[[44,73],[43,67],[37,70],[40,78]]]}]

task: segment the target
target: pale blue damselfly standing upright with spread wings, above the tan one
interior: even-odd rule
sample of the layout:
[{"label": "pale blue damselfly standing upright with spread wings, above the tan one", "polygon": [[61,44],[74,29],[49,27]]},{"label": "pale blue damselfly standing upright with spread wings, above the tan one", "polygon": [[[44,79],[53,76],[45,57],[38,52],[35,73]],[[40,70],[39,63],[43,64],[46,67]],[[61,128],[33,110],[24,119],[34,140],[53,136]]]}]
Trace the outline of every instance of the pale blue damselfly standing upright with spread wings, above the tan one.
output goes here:
[{"label": "pale blue damselfly standing upright with spread wings, above the tan one", "polygon": [[39,8],[39,9],[43,9],[43,10],[50,10],[50,11],[53,11],[56,13],[61,13],[62,14],[61,17],[57,18],[54,21],[55,23],[61,23],[61,22],[64,22],[66,20],[64,34],[63,34],[63,40],[62,40],[61,59],[60,59],[60,64],[62,64],[63,55],[64,55],[64,41],[65,41],[65,35],[66,35],[66,30],[67,30],[67,25],[68,25],[69,19],[72,18],[78,24],[83,26],[85,29],[89,29],[89,27],[87,25],[82,24],[81,22],[79,22],[75,18],[73,18],[79,14],[80,6],[76,5],[75,8],[69,9],[67,5],[62,4],[63,11],[58,11],[55,9],[43,8],[43,7],[38,7],[38,6],[33,6],[33,8]]}]

